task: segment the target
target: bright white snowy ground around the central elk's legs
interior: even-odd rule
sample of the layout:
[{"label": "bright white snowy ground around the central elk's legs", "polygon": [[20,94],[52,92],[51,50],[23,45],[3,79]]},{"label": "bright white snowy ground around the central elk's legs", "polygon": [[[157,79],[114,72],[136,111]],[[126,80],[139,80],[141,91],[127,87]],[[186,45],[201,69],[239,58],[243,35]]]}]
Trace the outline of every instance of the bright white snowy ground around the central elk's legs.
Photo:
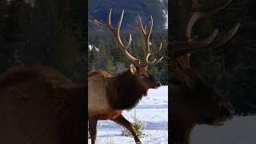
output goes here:
[{"label": "bright white snowy ground around the central elk's legs", "polygon": [[[161,86],[157,90],[149,90],[148,96],[142,98],[136,109],[136,117],[144,122],[145,138],[140,138],[146,144],[168,143],[168,86]],[[130,122],[134,110],[123,111],[123,115]],[[134,144],[134,138],[122,136],[122,127],[111,121],[98,121],[96,144]],[[90,143],[90,139],[88,139]]]}]

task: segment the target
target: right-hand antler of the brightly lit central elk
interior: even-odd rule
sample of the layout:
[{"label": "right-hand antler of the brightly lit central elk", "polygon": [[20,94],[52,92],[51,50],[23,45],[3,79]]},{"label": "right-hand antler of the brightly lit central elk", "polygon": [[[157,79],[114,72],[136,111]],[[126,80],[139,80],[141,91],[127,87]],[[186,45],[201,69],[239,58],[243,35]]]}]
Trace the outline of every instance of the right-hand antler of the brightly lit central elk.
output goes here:
[{"label": "right-hand antler of the brightly lit central elk", "polygon": [[131,26],[131,25],[128,25],[130,28],[134,29],[134,30],[138,30],[140,32],[142,32],[142,38],[144,38],[144,41],[145,41],[145,44],[146,44],[146,48],[143,48],[143,50],[145,51],[146,53],[146,62],[141,62],[140,65],[141,66],[149,66],[150,64],[157,64],[159,62],[162,61],[162,58],[159,58],[158,61],[156,58],[154,58],[153,61],[150,62],[149,58],[150,58],[150,55],[153,55],[153,54],[157,54],[161,49],[162,49],[162,42],[160,43],[160,46],[158,48],[158,50],[152,50],[150,48],[150,34],[152,32],[152,29],[153,29],[153,18],[152,16],[150,16],[150,22],[151,22],[151,25],[150,25],[150,30],[148,31],[148,33],[146,33],[146,26],[145,28],[143,28],[143,25],[142,25],[142,19],[141,17],[138,15],[138,22],[139,22],[139,27],[137,26]]}]

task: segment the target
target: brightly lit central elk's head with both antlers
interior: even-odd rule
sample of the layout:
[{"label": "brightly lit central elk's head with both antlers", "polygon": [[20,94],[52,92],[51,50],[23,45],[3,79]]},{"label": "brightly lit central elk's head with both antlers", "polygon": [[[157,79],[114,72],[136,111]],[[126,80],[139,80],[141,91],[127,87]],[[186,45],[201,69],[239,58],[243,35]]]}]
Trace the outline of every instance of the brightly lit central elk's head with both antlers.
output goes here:
[{"label": "brightly lit central elk's head with both antlers", "polygon": [[145,47],[143,47],[143,50],[146,54],[145,62],[141,62],[138,58],[134,58],[134,56],[132,56],[127,51],[132,41],[131,34],[129,34],[129,42],[127,46],[123,44],[122,38],[120,38],[120,28],[122,24],[124,10],[122,10],[122,14],[118,21],[118,25],[115,28],[111,26],[111,11],[112,10],[110,9],[110,12],[108,14],[107,24],[98,22],[98,20],[96,19],[90,20],[90,22],[94,23],[97,26],[104,26],[106,27],[106,29],[110,30],[112,34],[114,34],[114,37],[117,39],[119,49],[122,50],[123,54],[126,55],[126,58],[130,59],[130,61],[132,62],[132,64],[130,64],[130,70],[126,71],[126,73],[129,73],[128,75],[132,75],[134,76],[134,78],[139,79],[140,80],[139,82],[141,82],[142,86],[145,86],[146,89],[157,88],[158,86],[161,85],[160,82],[157,79],[155,79],[147,69],[148,66],[157,64],[162,61],[162,58],[159,58],[158,60],[154,58],[154,60],[150,61],[150,56],[153,54],[157,54],[162,49],[162,43],[160,43],[160,46],[157,50],[152,50],[152,48],[150,47],[150,34],[153,28],[152,16],[150,17],[151,25],[150,25],[150,30],[148,32],[146,32],[146,26],[143,27],[142,20],[139,15],[138,15],[139,26],[129,25],[130,28],[142,33],[142,38],[144,39],[144,42],[145,42]]}]

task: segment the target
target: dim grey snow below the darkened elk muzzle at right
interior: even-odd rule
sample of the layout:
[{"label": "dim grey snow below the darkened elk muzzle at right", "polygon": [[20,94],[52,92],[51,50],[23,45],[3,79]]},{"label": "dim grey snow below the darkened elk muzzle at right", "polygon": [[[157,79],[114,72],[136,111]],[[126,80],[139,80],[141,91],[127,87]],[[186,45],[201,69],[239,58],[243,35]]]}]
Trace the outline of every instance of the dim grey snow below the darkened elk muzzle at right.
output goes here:
[{"label": "dim grey snow below the darkened elk muzzle at right", "polygon": [[255,144],[256,116],[234,117],[224,126],[196,126],[191,144]]}]

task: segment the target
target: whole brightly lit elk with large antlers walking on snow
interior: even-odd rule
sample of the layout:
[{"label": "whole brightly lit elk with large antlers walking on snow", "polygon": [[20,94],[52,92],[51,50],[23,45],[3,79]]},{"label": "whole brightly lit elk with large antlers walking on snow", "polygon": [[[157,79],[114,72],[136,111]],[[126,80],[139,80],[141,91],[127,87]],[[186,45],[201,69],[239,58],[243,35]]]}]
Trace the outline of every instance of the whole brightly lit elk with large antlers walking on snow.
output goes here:
[{"label": "whole brightly lit elk with large antlers walking on snow", "polygon": [[[93,70],[89,73],[89,98],[88,98],[88,114],[89,114],[89,132],[91,143],[95,143],[97,134],[97,122],[98,120],[110,119],[121,126],[130,130],[130,133],[134,136],[134,140],[137,143],[141,143],[135,134],[134,129],[130,122],[122,116],[122,110],[130,110],[138,104],[143,96],[146,96],[147,90],[155,89],[160,86],[160,82],[156,80],[147,67],[161,62],[162,58],[154,59],[150,61],[150,55],[158,53],[162,44],[158,50],[151,50],[150,48],[150,34],[153,27],[153,18],[150,18],[151,26],[148,33],[146,33],[146,27],[142,26],[141,18],[138,16],[140,26],[130,26],[134,30],[138,30],[142,33],[142,37],[145,39],[146,48],[146,62],[140,62],[138,58],[134,58],[127,49],[130,47],[131,34],[127,46],[124,46],[120,38],[120,27],[122,24],[122,18],[119,19],[118,25],[114,29],[111,26],[111,10],[108,14],[107,24],[98,22],[97,20],[91,20],[95,25],[104,26],[114,34],[114,37],[118,40],[118,47],[122,50],[123,54],[130,59],[133,64],[130,65],[130,69],[126,70],[122,74],[116,76],[107,73],[102,70]],[[122,143],[122,142],[121,142]]]}]

